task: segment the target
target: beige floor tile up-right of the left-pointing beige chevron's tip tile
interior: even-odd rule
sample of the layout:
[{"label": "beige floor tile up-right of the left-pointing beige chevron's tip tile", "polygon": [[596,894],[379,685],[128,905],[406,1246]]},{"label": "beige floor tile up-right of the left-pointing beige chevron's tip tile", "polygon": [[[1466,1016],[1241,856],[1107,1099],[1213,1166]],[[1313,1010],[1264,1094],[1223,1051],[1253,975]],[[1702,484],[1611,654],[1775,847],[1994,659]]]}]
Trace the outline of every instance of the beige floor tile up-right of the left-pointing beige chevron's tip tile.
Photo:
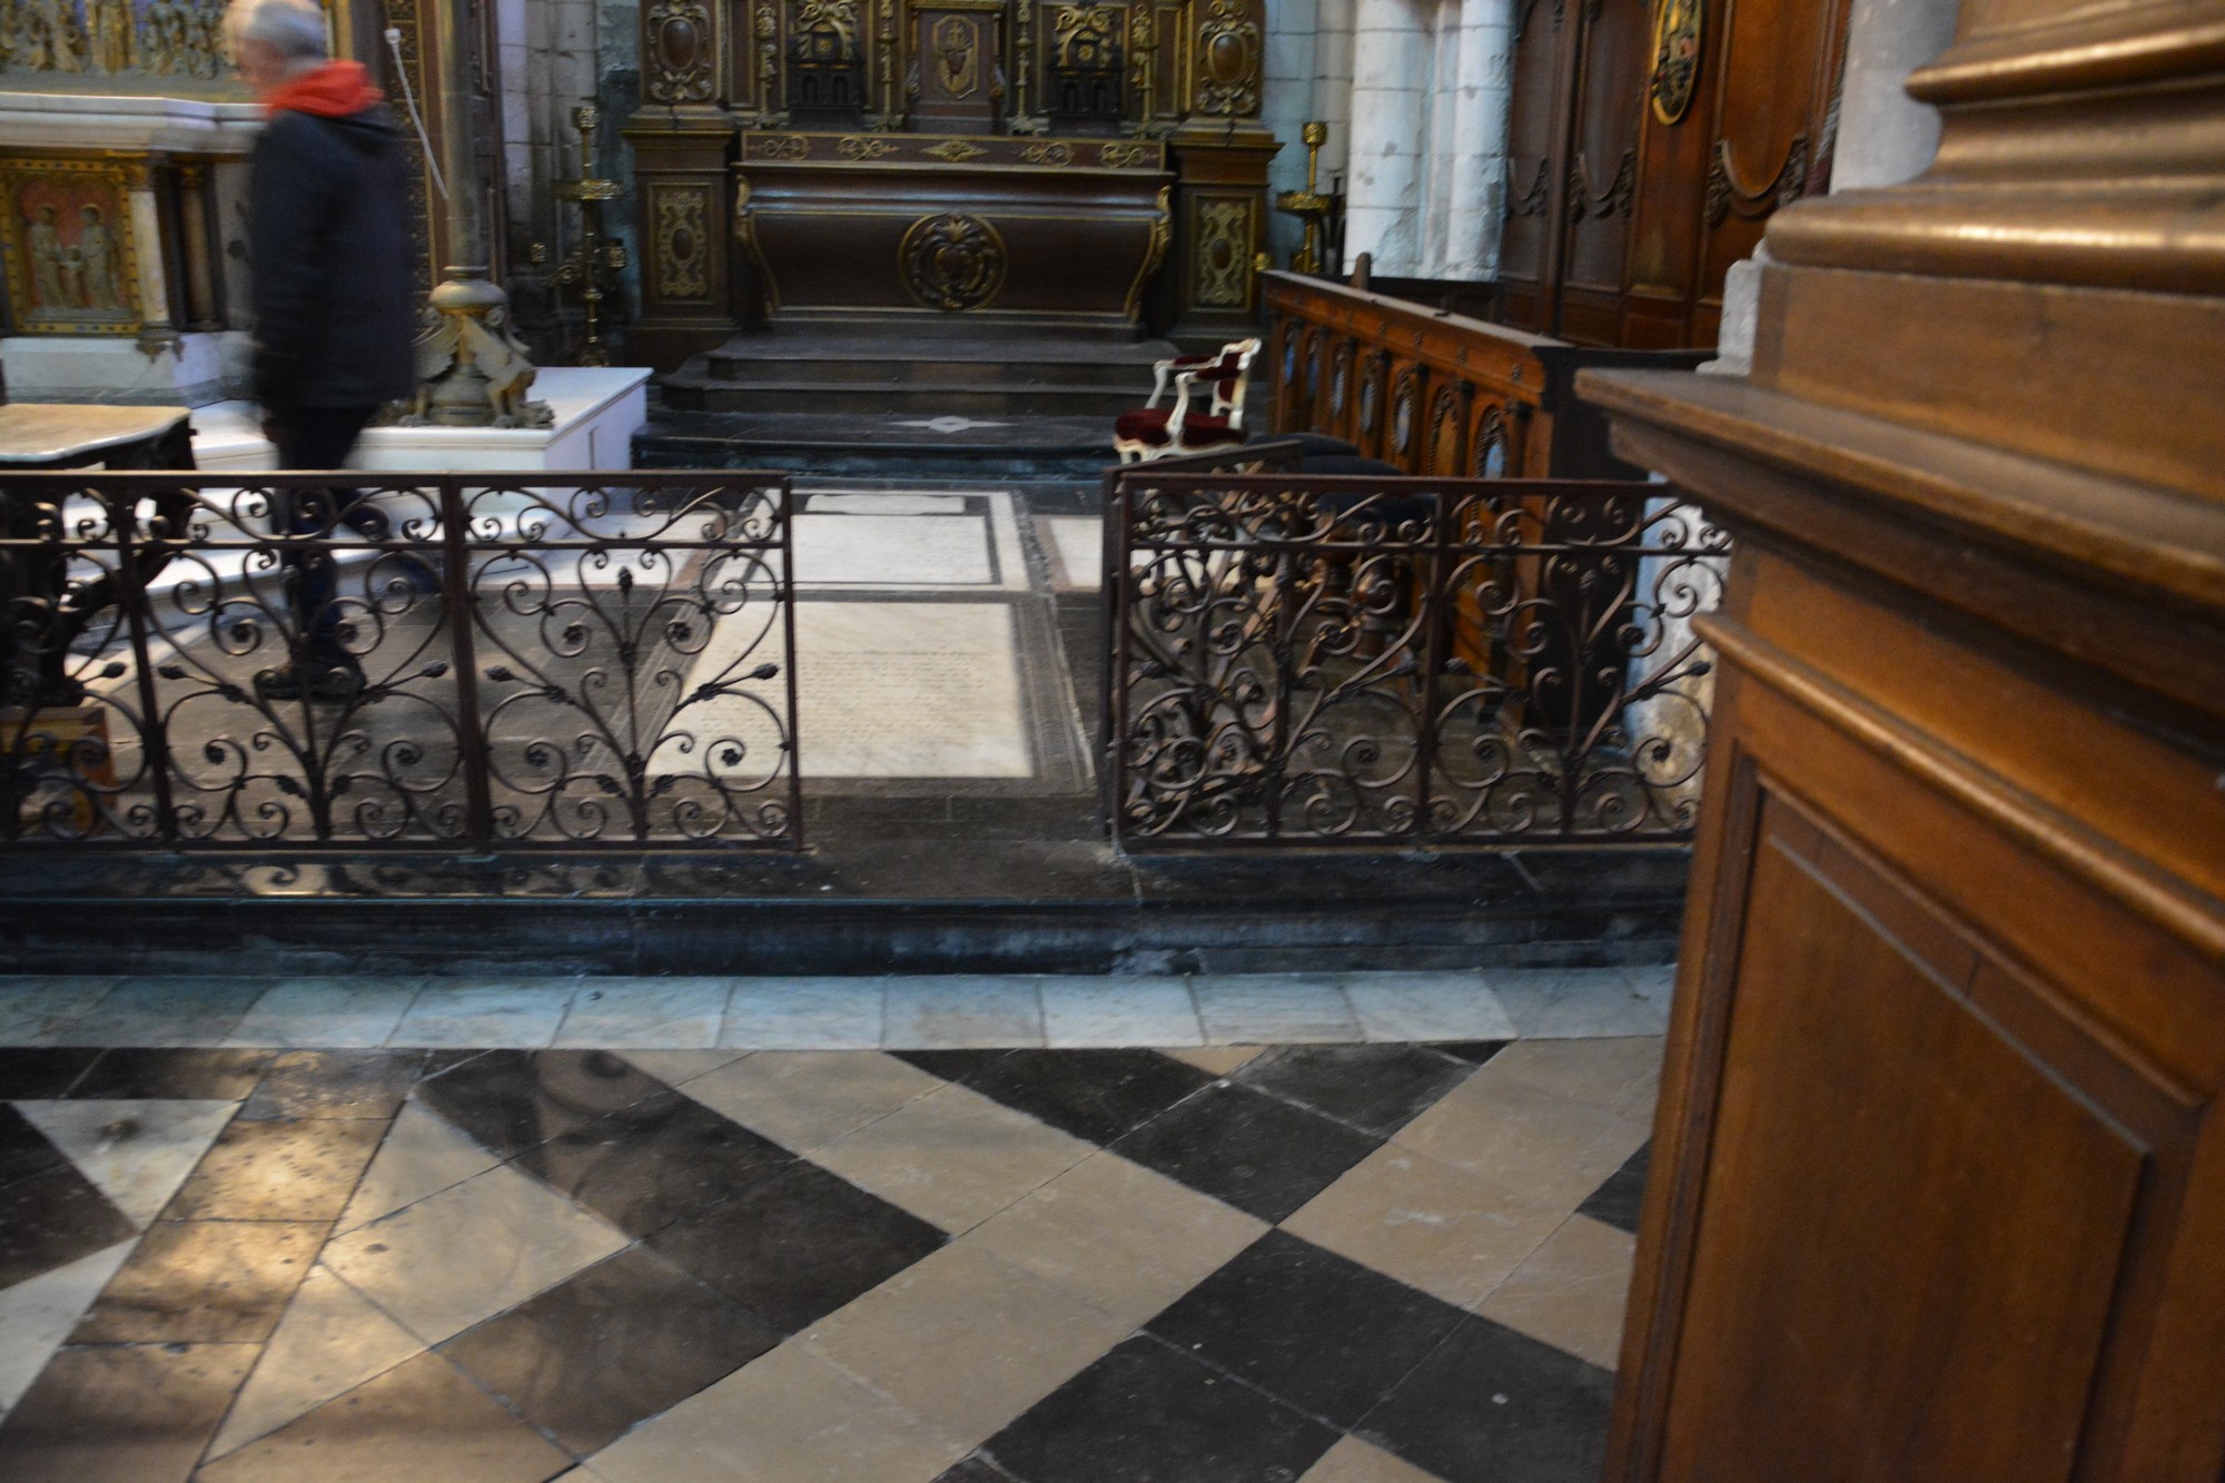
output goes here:
[{"label": "beige floor tile up-right of the left-pointing beige chevron's tip tile", "polygon": [[[1489,1069],[1491,1062],[1484,1064]],[[1477,1071],[1391,1140],[1480,1173],[1500,1189],[1573,1211],[1638,1151],[1646,1122],[1522,1078]]]}]

